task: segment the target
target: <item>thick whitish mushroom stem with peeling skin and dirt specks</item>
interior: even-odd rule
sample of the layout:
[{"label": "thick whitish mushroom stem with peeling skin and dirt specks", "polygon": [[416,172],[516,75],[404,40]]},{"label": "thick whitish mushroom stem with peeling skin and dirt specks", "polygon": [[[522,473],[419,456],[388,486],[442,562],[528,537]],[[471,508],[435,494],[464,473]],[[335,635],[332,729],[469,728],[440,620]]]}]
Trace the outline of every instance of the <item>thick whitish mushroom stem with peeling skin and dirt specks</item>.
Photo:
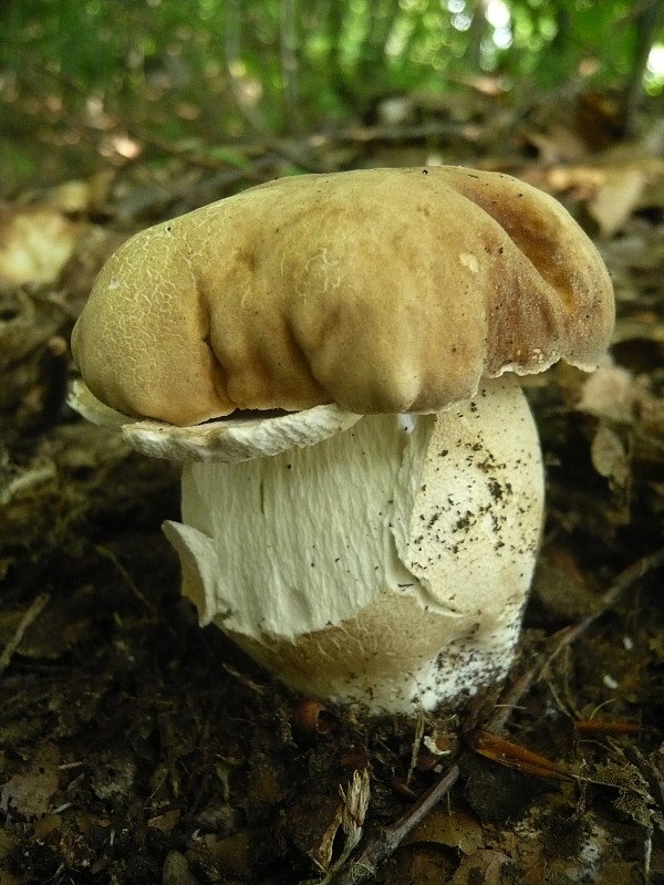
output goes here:
[{"label": "thick whitish mushroom stem with peeling skin and dirt specks", "polygon": [[500,378],[437,416],[187,464],[165,531],[201,624],[309,696],[412,712],[506,674],[542,485],[530,410]]}]

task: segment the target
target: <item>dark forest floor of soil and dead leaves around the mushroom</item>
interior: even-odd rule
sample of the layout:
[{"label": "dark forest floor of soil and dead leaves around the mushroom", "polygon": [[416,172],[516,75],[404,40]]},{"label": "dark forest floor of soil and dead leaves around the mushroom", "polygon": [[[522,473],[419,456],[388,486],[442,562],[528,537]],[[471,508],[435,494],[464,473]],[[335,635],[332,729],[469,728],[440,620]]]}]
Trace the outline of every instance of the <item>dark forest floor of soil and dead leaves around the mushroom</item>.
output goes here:
[{"label": "dark forest floor of soil and dead leaves around the mushroom", "polygon": [[454,143],[413,126],[326,145],[328,168],[470,153],[520,176],[568,206],[615,285],[611,360],[527,389],[548,516],[515,671],[416,721],[320,709],[200,629],[160,531],[177,468],[65,404],[110,251],[292,158],[146,157],[6,201],[0,885],[664,883],[663,138],[590,144],[590,124],[543,119],[499,152],[467,119]]}]

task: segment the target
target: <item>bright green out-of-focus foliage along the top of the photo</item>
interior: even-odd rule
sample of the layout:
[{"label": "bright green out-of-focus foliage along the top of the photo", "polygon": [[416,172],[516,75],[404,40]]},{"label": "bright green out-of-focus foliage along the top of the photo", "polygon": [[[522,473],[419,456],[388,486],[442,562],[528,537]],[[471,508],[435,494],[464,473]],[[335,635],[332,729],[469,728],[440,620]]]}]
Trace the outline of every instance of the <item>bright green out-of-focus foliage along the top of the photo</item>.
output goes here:
[{"label": "bright green out-of-focus foliage along the top of the photo", "polygon": [[[166,134],[320,127],[380,95],[490,75],[515,96],[626,90],[664,40],[658,0],[4,0],[0,84],[91,96]],[[645,54],[644,54],[645,52]],[[651,93],[662,84],[650,76]],[[168,112],[166,104],[169,104]],[[139,108],[143,108],[141,110]],[[170,121],[170,125],[168,123]],[[179,125],[187,126],[183,112]]]}]

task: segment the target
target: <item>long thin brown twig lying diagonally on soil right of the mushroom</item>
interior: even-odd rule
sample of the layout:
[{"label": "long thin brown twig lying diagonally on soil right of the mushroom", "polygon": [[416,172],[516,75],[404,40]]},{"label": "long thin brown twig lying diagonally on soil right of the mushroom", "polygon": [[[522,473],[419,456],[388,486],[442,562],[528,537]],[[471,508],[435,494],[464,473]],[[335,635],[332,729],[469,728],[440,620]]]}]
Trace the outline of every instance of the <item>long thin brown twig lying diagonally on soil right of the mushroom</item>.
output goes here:
[{"label": "long thin brown twig lying diagonally on soil right of the mushroom", "polygon": [[[540,678],[542,673],[544,673],[556,655],[558,655],[562,648],[571,645],[582,636],[588,628],[612,608],[621,596],[641,577],[650,572],[654,572],[662,565],[664,565],[664,548],[656,550],[654,553],[650,553],[647,556],[642,556],[642,559],[636,560],[636,562],[621,572],[604,593],[602,603],[596,612],[593,612],[593,614],[588,615],[578,624],[564,631],[553,654],[543,663],[539,662],[537,666],[531,667],[510,686],[500,704],[497,705],[494,714],[485,723],[485,729],[491,732],[502,730],[512,710],[519,705],[520,700]],[[408,833],[445,798],[458,780],[459,774],[460,766],[459,761],[457,761],[440,780],[424,793],[395,823],[391,826],[383,827],[374,834],[373,837],[369,839],[362,851],[355,855],[355,857],[352,857],[349,864],[343,870],[340,870],[331,882],[334,883],[334,885],[356,885],[356,883],[363,882],[372,876],[377,865],[387,860],[387,857],[398,848]]]}]

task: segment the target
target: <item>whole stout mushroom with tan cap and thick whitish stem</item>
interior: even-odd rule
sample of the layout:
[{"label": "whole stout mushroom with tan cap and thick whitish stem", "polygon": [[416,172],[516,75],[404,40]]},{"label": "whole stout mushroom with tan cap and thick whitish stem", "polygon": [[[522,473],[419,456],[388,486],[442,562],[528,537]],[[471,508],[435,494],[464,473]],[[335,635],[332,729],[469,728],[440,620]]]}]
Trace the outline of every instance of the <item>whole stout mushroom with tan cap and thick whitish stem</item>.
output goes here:
[{"label": "whole stout mushroom with tan cap and thick whitish stem", "polygon": [[184,593],[279,678],[433,709],[515,656],[543,511],[516,376],[591,371],[611,282],[551,197],[457,167],[284,178],[138,233],[71,402],[184,462]]}]

